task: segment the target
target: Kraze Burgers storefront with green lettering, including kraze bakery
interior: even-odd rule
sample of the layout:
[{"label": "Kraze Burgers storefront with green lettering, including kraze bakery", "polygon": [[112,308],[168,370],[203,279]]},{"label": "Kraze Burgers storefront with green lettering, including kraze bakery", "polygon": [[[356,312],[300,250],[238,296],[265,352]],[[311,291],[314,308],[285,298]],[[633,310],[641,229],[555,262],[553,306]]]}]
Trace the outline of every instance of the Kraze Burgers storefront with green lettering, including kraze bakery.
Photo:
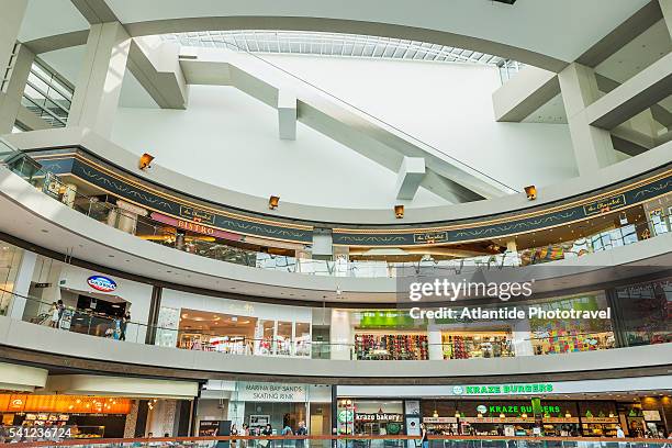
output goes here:
[{"label": "Kraze Burgers storefront with green lettering, including kraze bakery", "polygon": [[667,376],[480,385],[339,385],[334,424],[339,434],[352,435],[413,434],[422,422],[436,435],[615,437],[620,426],[628,437],[665,437],[672,429],[670,383],[672,377]]}]

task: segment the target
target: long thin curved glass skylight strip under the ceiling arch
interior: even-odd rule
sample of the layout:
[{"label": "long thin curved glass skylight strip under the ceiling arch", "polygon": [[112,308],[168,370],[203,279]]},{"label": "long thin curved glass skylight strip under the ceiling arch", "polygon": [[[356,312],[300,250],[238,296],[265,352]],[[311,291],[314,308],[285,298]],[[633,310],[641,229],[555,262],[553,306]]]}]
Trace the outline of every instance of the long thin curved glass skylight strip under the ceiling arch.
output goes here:
[{"label": "long thin curved glass skylight strip under the ceiling arch", "polygon": [[175,33],[161,37],[184,46],[226,48],[234,52],[457,61],[496,66],[513,63],[499,56],[428,42],[360,34],[235,30]]}]

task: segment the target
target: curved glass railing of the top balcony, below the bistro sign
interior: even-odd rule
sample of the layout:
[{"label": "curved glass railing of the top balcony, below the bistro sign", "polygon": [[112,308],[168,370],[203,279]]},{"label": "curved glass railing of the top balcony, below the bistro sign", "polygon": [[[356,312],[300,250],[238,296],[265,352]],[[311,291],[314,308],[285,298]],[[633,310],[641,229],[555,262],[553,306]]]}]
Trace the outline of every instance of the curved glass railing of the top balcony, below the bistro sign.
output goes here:
[{"label": "curved glass railing of the top balcony, below the bistro sign", "polygon": [[[2,146],[4,150],[1,150]],[[43,170],[40,164],[27,155],[12,149],[2,142],[0,142],[0,165],[7,166],[40,191],[66,203],[74,210],[139,238],[221,261],[312,276],[397,278],[418,275],[461,275],[479,269],[530,266],[582,257],[672,232],[672,217],[668,211],[661,210],[654,216],[642,215],[616,228],[520,250],[505,250],[456,259],[435,259],[424,256],[418,261],[404,262],[351,260],[346,256],[337,256],[335,260],[317,260],[249,250],[206,235],[180,235],[173,227],[128,212],[113,203],[101,201],[99,197],[81,194],[58,176]]]}]

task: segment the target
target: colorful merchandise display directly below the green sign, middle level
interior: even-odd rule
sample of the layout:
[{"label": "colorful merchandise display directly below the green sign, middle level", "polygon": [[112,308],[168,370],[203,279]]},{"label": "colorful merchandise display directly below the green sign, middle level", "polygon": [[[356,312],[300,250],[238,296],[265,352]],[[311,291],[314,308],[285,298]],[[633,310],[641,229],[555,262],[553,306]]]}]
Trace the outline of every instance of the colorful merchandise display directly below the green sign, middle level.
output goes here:
[{"label": "colorful merchandise display directly below the green sign, middle level", "polygon": [[355,336],[355,356],[360,360],[426,360],[429,359],[427,349],[426,335]]}]

